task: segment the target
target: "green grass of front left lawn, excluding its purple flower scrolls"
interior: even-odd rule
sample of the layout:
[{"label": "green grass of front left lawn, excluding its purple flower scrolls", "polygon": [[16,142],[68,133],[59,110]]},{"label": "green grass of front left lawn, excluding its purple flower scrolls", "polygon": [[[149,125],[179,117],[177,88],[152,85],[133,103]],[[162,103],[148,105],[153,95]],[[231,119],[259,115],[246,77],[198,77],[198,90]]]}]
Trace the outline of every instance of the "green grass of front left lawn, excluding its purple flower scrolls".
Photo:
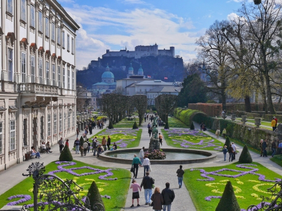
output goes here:
[{"label": "green grass of front left lawn, excluding its purple flower scrolls", "polygon": [[[89,164],[75,161],[75,160],[73,162],[75,162],[76,165],[66,166],[64,168],[69,169],[73,167],[90,166],[90,167],[99,168],[102,170],[108,169],[105,167],[93,166],[93,165],[89,165]],[[52,170],[57,170],[57,166],[59,165],[60,164],[55,164],[55,161],[48,164],[46,166],[45,173],[48,173],[49,171],[52,171]],[[84,173],[84,172],[90,172],[90,171],[93,171],[93,170],[90,170],[90,169],[75,170],[75,172],[79,174]],[[75,180],[78,185],[84,188],[84,191],[86,190],[85,192],[80,193],[80,195],[81,194],[87,195],[88,188],[90,187],[92,183],[91,181],[89,181],[89,179],[95,180],[98,188],[100,189],[100,194],[108,195],[111,197],[110,199],[103,198],[105,209],[119,211],[122,207],[124,207],[126,203],[126,197],[127,197],[127,193],[129,189],[130,180],[131,180],[131,173],[130,171],[126,169],[120,169],[120,168],[112,169],[111,172],[113,172],[113,176],[108,177],[108,178],[117,178],[117,180],[108,181],[108,180],[100,180],[98,178],[100,175],[105,175],[106,173],[82,175],[80,177],[73,175],[71,173],[67,173],[67,172],[58,172],[55,174],[61,179]],[[19,177],[23,177],[21,173],[27,173],[27,172],[18,172],[18,173],[19,173]],[[4,194],[0,196],[0,207],[3,207],[4,205],[6,205],[9,202],[19,200],[20,198],[15,198],[12,200],[7,199],[8,197],[17,195],[17,194],[25,194],[25,195],[30,195],[32,197],[32,199],[25,201],[23,203],[17,204],[17,205],[33,204],[33,192],[32,191],[33,191],[33,179],[28,177],[25,180],[23,180],[22,182],[20,182],[18,185],[14,186],[13,188],[11,188],[10,190],[8,190],[7,192],[5,192]]]}]

